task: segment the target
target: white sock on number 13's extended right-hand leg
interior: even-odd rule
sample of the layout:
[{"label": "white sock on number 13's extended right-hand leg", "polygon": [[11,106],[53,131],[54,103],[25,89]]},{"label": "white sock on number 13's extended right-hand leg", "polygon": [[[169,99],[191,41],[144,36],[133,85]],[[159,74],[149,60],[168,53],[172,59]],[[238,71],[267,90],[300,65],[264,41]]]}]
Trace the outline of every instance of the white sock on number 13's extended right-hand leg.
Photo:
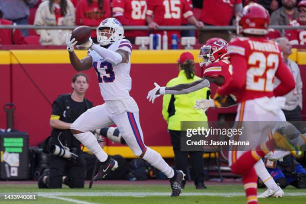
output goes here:
[{"label": "white sock on number 13's extended right-hand leg", "polygon": [[149,162],[152,166],[163,172],[167,178],[171,178],[174,175],[174,170],[171,168],[161,157],[161,155],[151,149],[146,147],[145,154],[142,157],[144,160]]}]

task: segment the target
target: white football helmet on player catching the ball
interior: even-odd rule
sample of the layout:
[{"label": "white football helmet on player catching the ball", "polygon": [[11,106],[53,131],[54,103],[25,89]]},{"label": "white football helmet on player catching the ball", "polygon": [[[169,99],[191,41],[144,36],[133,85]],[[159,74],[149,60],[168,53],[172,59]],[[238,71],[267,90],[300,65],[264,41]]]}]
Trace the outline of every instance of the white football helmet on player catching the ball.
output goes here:
[{"label": "white football helmet on player catching the ball", "polygon": [[[109,28],[109,32],[102,32],[102,29]],[[111,34],[109,38],[105,36],[105,33]],[[96,28],[97,41],[100,45],[106,46],[117,40],[124,38],[124,30],[122,24],[116,18],[109,17],[101,21]]]}]

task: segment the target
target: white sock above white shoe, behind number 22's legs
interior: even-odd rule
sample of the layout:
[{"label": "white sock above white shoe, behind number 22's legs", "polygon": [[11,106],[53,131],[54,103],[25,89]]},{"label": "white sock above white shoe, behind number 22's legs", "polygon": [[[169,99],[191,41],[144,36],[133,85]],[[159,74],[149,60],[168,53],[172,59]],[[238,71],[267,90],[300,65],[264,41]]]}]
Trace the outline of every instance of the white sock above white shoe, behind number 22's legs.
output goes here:
[{"label": "white sock above white shoe, behind number 22's legs", "polygon": [[267,188],[276,190],[278,188],[278,185],[273,180],[273,177],[269,174],[267,169],[264,166],[264,163],[261,159],[259,159],[255,165],[255,170],[258,175],[258,177],[262,180],[262,182],[265,184]]}]

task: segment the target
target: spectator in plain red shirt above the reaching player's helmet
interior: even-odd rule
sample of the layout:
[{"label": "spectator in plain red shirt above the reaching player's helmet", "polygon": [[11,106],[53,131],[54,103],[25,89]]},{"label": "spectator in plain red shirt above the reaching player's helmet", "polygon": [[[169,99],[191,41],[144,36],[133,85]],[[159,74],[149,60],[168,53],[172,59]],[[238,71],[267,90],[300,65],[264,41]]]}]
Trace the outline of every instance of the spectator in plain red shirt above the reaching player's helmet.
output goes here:
[{"label": "spectator in plain red shirt above the reaching player's helmet", "polygon": [[[203,0],[200,20],[205,25],[229,25],[232,17],[240,14],[242,0]],[[212,37],[230,41],[227,30],[200,30],[198,40],[204,43]]]}]

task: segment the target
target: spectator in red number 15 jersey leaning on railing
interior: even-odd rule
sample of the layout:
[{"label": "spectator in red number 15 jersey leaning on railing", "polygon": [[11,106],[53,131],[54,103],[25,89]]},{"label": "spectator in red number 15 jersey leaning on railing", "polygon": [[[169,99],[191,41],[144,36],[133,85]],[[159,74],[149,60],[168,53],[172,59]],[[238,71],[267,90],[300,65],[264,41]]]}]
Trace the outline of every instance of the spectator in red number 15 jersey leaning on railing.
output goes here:
[{"label": "spectator in red number 15 jersey leaning on railing", "polygon": [[[199,28],[204,26],[201,21],[195,19],[186,0],[148,0],[145,15],[146,22],[151,29],[156,29],[159,25],[181,25],[183,18]],[[163,33],[161,30],[155,32],[161,35]],[[173,33],[180,37],[178,30],[168,30],[168,43]]]}]

